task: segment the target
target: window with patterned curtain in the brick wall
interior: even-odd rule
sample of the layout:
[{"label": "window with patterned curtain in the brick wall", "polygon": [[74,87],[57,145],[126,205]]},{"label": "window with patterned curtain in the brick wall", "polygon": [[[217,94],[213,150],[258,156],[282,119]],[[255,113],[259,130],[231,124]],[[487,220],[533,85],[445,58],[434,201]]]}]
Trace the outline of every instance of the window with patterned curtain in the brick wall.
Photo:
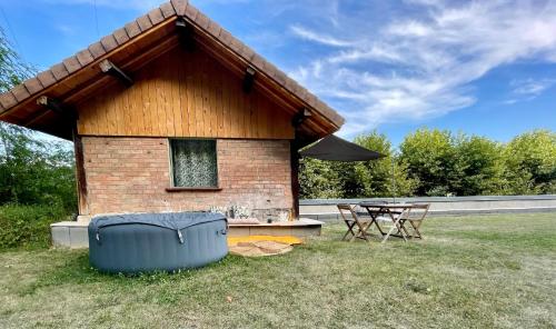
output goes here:
[{"label": "window with patterned curtain in the brick wall", "polygon": [[173,187],[217,188],[216,140],[170,140]]}]

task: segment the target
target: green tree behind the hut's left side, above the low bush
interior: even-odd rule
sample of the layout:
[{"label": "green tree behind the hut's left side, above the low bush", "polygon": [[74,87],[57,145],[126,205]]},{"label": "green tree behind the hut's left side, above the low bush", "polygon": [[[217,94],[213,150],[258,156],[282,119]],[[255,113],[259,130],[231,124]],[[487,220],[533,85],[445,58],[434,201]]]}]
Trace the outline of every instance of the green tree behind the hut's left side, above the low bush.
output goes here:
[{"label": "green tree behind the hut's left side, above the low bush", "polygon": [[[0,29],[0,92],[32,76]],[[26,128],[0,122],[0,203],[77,205],[73,154]]]}]

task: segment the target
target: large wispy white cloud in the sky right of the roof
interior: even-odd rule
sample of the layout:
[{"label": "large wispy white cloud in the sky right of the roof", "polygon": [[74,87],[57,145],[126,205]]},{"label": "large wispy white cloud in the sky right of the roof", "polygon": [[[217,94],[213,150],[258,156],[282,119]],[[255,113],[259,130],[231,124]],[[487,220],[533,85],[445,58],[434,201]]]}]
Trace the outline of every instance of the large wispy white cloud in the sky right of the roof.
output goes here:
[{"label": "large wispy white cloud in the sky right of the roof", "polygon": [[[494,68],[556,62],[554,1],[406,3],[411,13],[379,27],[349,16],[339,16],[339,27],[326,33],[291,27],[299,38],[330,47],[290,74],[340,110],[347,119],[342,134],[469,107],[476,101],[470,86]],[[514,93],[536,97],[554,83],[522,81]]]}]

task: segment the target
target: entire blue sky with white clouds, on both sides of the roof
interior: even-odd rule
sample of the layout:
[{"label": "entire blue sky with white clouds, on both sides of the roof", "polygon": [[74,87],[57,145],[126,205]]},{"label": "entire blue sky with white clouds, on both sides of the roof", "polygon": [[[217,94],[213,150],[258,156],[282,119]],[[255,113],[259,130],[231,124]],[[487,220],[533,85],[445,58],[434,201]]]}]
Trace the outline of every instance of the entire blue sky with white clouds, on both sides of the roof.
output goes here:
[{"label": "entire blue sky with white clouds, on both sides of the roof", "polygon": [[[0,0],[0,23],[44,69],[160,2]],[[556,1],[192,3],[337,109],[342,137],[556,130]]]}]

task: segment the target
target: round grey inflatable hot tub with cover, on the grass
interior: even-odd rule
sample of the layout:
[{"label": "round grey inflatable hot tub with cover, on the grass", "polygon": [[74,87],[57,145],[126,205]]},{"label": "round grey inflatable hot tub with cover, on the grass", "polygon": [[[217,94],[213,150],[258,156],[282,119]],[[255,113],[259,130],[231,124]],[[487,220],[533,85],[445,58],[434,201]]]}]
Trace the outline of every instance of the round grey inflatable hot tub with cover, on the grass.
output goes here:
[{"label": "round grey inflatable hot tub with cover, on the grass", "polygon": [[219,213],[97,217],[89,223],[89,259],[111,273],[198,268],[228,253],[226,233],[227,220]]}]

